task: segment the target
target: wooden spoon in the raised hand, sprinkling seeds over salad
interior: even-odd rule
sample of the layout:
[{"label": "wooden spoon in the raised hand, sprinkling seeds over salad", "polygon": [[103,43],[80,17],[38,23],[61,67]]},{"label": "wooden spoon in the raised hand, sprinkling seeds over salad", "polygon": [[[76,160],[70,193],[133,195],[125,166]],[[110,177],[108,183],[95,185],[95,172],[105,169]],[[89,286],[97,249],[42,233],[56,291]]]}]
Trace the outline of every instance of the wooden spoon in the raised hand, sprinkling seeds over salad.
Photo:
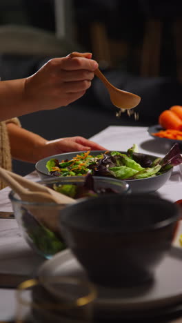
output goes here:
[{"label": "wooden spoon in the raised hand, sprinkling seeds over salad", "polygon": [[[79,52],[72,52],[70,57],[85,57],[83,54]],[[97,70],[94,71],[94,74],[101,79],[105,87],[108,89],[108,92],[110,94],[110,100],[112,101],[112,104],[114,106],[117,106],[117,108],[121,109],[131,109],[135,106],[138,106],[138,104],[141,101],[141,97],[138,95],[135,95],[131,92],[119,90],[119,88],[115,88],[108,79],[105,78],[105,76],[102,74],[102,72],[97,68]]]}]

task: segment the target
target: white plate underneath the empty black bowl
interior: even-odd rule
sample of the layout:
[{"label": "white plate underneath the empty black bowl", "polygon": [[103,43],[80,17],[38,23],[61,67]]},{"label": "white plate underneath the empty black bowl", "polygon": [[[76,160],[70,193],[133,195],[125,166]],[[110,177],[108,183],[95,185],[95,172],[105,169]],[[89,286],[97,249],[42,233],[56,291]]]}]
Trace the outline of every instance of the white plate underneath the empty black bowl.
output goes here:
[{"label": "white plate underneath the empty black bowl", "polygon": [[[124,265],[124,264],[123,264]],[[105,268],[107,270],[107,268]],[[133,288],[107,288],[97,285],[99,296],[94,301],[94,313],[98,317],[134,317],[160,311],[182,302],[182,249],[172,247],[170,254],[159,265],[152,284]],[[83,267],[67,249],[46,261],[39,269],[39,278],[70,276],[87,279]]]}]

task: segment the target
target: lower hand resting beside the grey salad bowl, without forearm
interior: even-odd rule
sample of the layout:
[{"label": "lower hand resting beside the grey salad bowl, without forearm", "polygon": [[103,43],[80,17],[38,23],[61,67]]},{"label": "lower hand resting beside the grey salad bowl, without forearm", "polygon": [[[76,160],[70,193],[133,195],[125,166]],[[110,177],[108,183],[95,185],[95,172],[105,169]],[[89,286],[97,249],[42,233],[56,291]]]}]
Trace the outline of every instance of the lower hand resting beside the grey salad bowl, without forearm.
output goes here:
[{"label": "lower hand resting beside the grey salad bowl, without forearm", "polygon": [[[106,150],[94,141],[80,136],[46,141],[42,147],[43,157],[83,150]],[[43,158],[41,157],[41,158]]]}]

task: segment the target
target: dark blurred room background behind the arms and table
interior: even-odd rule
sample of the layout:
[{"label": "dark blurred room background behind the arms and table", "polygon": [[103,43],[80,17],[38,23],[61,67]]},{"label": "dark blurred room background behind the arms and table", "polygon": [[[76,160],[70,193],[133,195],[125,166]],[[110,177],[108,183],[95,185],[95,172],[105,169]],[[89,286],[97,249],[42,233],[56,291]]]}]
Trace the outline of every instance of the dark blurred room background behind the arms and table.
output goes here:
[{"label": "dark blurred room background behind the arms and table", "polygon": [[[178,1],[117,1],[117,0],[74,0],[72,1],[72,39],[65,39],[65,46],[57,39],[57,23],[54,1],[18,1],[1,0],[0,3],[0,75],[1,79],[17,79],[28,77],[36,72],[48,59],[68,55],[72,50],[81,48],[93,53],[94,59],[112,84],[123,90],[141,96],[141,104],[136,108],[139,121],[123,114],[117,119],[117,108],[112,106],[108,92],[99,79],[94,79],[92,88],[85,96],[66,108],[35,112],[20,117],[24,128],[31,130],[46,139],[81,135],[89,138],[110,125],[150,126],[158,123],[159,113],[174,104],[182,105],[179,54],[181,48],[176,46],[176,21],[178,21],[178,37],[181,21],[182,5]],[[143,41],[146,37],[148,21],[161,23],[161,41],[159,50],[159,68],[156,73],[142,72]],[[99,25],[98,25],[99,24]],[[52,43],[47,43],[44,51],[39,48],[36,37],[25,38],[22,43],[17,41],[18,50],[6,50],[7,35],[10,30],[5,26],[19,26],[28,32],[43,31],[51,35],[58,50],[52,50]],[[95,26],[105,33],[99,43],[99,34],[94,34]],[[155,25],[154,25],[155,26]],[[157,25],[156,25],[157,26]],[[31,29],[32,28],[32,29]],[[103,28],[103,29],[102,29]],[[12,28],[13,29],[13,28]],[[150,35],[150,34],[149,34]],[[150,35],[151,36],[151,35]],[[34,38],[34,39],[33,39]],[[34,51],[32,41],[39,50]],[[31,43],[30,43],[31,41]],[[152,55],[159,48],[149,45]],[[11,41],[9,41],[11,43]],[[37,43],[37,45],[36,45]],[[77,45],[75,46],[74,43]],[[149,42],[150,43],[150,42]],[[178,42],[180,43],[180,41]],[[26,52],[26,46],[30,50]],[[31,47],[32,46],[32,47]],[[76,48],[78,46],[78,48]],[[101,48],[103,46],[103,50]],[[105,46],[105,47],[104,47]],[[15,46],[16,47],[16,46]],[[41,46],[40,46],[41,47]],[[8,48],[8,47],[7,47]],[[32,48],[32,50],[31,50]],[[100,48],[100,51],[99,51]],[[108,55],[106,55],[107,49]],[[154,54],[152,53],[154,51]],[[36,53],[35,53],[36,52]],[[145,57],[144,57],[145,58]],[[152,70],[152,59],[149,61]],[[121,143],[122,150],[122,143]],[[13,161],[16,173],[25,175],[34,170],[33,164]]]}]

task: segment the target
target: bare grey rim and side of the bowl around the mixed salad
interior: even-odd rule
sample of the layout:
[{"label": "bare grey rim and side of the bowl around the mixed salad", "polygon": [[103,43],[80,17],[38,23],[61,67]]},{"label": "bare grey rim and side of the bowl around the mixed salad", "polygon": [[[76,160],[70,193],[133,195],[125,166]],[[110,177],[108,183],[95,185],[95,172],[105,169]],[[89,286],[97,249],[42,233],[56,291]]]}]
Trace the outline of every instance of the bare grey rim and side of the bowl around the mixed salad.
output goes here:
[{"label": "bare grey rim and side of the bowl around the mixed salad", "polygon": [[[39,177],[42,180],[44,180],[45,178],[52,178],[52,177],[55,178],[53,175],[49,174],[48,169],[45,166],[50,159],[54,158],[54,159],[58,159],[59,161],[63,159],[72,159],[79,153],[83,153],[83,151],[52,155],[50,157],[45,157],[37,161],[35,168],[37,170]],[[100,153],[104,153],[104,150],[93,150],[91,151],[90,154],[92,154],[93,156],[96,156],[96,155],[99,155]],[[126,152],[120,151],[120,153],[125,154]],[[157,158],[157,156],[154,156],[154,155],[147,155],[147,156],[149,156],[151,160],[154,160]],[[172,173],[172,168],[170,168],[170,170],[167,170],[165,173],[161,175],[142,178],[142,179],[125,179],[125,182],[130,185],[130,189],[132,190],[132,193],[153,193],[156,190],[159,190],[159,188],[161,188],[161,186],[163,186],[165,182],[168,181],[171,173]]]}]

